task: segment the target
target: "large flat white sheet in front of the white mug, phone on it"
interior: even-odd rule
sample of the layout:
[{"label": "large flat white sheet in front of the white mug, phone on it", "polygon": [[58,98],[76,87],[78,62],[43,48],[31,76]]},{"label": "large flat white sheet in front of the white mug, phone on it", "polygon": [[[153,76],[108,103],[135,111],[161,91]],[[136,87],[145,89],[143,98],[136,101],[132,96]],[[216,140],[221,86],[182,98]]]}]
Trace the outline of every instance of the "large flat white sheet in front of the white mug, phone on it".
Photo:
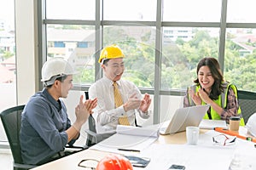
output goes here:
[{"label": "large flat white sheet in front of the white mug, phone on it", "polygon": [[183,165],[186,170],[228,170],[234,151],[189,144],[151,144],[139,156],[151,159],[145,170],[165,170],[172,164]]}]

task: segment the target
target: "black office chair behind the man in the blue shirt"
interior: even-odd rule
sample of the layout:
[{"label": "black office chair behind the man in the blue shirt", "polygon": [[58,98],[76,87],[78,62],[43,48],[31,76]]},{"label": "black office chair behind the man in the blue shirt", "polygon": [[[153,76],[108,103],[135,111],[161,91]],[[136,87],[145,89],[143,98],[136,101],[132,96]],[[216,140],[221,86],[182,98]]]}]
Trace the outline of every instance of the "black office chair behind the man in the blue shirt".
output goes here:
[{"label": "black office chair behind the man in the blue shirt", "polygon": [[18,105],[1,112],[1,120],[3,122],[4,131],[9,141],[9,146],[14,159],[14,170],[30,169],[32,165],[23,163],[20,152],[20,124],[21,112],[25,105]]}]

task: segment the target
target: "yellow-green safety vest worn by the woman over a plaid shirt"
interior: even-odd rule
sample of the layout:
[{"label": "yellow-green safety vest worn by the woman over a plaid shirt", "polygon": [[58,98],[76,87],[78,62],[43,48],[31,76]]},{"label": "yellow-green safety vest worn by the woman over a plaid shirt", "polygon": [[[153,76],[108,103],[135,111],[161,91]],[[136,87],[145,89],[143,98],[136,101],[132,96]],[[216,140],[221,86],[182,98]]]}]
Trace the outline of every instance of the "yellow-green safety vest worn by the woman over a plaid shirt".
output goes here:
[{"label": "yellow-green safety vest worn by the woman over a plaid shirt", "polygon": [[[224,93],[220,94],[218,96],[218,99],[213,100],[213,102],[216,103],[217,105],[220,105],[222,108],[225,108],[226,105],[227,105],[227,99],[228,99],[228,91],[229,91],[228,89],[232,88],[234,90],[234,92],[236,94],[236,98],[237,98],[237,88],[236,88],[236,86],[234,84],[230,84],[228,82],[223,82],[223,84],[224,84],[224,87],[225,87],[224,88]],[[196,92],[198,92],[198,89],[201,88],[201,87],[200,87],[200,85],[193,85],[190,88],[192,90],[194,90],[194,92],[196,93]],[[188,93],[188,95],[189,95],[189,93]],[[189,96],[189,105],[195,105],[193,99],[191,99],[190,96]],[[206,103],[202,101],[201,105],[206,105]],[[237,114],[238,115],[241,114],[240,106],[238,108]],[[218,115],[218,113],[215,110],[213,110],[213,109],[211,109],[211,116],[212,116],[212,120],[220,120],[221,119],[221,117]],[[208,114],[206,114],[204,116],[204,119],[209,119]],[[243,118],[241,116],[240,126],[244,126],[244,125],[245,125],[245,123],[244,123],[244,120],[243,120]]]}]

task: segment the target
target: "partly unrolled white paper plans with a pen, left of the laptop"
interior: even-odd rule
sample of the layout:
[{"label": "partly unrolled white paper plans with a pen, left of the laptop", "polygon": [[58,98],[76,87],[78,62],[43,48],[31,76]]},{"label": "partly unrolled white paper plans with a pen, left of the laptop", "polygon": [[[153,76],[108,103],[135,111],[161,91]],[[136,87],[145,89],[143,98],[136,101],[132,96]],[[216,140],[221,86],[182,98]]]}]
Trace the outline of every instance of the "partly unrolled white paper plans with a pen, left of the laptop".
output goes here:
[{"label": "partly unrolled white paper plans with a pen, left of the laptop", "polygon": [[131,155],[131,152],[144,150],[148,145],[154,143],[158,137],[158,129],[118,125],[115,134],[91,146],[90,149]]}]

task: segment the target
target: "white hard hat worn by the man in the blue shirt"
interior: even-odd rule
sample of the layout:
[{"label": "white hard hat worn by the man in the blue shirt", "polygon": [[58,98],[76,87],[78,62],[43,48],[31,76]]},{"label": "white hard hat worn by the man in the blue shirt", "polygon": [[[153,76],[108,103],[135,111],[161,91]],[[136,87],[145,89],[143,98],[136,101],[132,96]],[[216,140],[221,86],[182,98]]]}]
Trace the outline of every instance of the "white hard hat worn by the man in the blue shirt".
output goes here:
[{"label": "white hard hat worn by the man in the blue shirt", "polygon": [[47,84],[50,85],[55,82],[55,80],[51,80],[52,77],[73,74],[75,74],[73,66],[67,60],[62,58],[48,59],[42,67],[41,82],[48,82]]}]

